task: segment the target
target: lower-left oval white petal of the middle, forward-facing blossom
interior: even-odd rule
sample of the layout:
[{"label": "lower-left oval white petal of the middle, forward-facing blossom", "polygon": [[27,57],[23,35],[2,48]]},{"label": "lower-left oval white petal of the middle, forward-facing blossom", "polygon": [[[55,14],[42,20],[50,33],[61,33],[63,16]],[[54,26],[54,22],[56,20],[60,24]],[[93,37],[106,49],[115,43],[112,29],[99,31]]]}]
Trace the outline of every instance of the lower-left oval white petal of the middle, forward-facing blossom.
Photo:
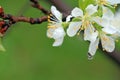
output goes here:
[{"label": "lower-left oval white petal of the middle, forward-facing blossom", "polygon": [[68,36],[70,37],[75,36],[77,31],[80,29],[81,25],[82,25],[82,22],[71,22],[67,29]]}]

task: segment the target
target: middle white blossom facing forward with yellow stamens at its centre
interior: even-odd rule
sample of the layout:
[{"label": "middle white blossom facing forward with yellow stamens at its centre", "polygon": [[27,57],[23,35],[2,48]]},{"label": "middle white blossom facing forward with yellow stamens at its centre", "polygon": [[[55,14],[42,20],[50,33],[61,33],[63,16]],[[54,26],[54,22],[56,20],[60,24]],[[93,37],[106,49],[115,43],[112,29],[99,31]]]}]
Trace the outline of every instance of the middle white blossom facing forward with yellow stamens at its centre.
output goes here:
[{"label": "middle white blossom facing forward with yellow stamens at its centre", "polygon": [[[68,36],[73,37],[76,35],[76,33],[80,29],[85,30],[85,29],[90,29],[88,27],[92,27],[92,22],[93,22],[92,15],[97,12],[97,6],[90,4],[90,5],[88,5],[88,7],[85,10],[86,10],[85,14],[80,8],[77,8],[77,7],[72,10],[70,16],[79,18],[81,20],[73,21],[70,23],[70,25],[67,29]],[[70,16],[68,16],[68,17],[70,17]],[[94,28],[94,27],[92,27],[92,28]],[[90,34],[93,35],[91,32],[90,32]],[[85,36],[88,36],[90,34],[89,34],[89,32],[88,33],[86,32]],[[87,40],[87,39],[85,38],[85,40]]]}]

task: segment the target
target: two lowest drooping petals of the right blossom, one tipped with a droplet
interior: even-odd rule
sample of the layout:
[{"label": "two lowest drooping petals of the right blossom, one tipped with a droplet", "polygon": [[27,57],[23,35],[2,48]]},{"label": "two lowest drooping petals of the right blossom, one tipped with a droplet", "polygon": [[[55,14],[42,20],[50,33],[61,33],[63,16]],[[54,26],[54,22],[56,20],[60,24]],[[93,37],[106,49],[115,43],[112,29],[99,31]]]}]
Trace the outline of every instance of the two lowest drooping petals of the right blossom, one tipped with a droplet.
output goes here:
[{"label": "two lowest drooping petals of the right blossom, one tipped with a droplet", "polygon": [[90,41],[89,50],[88,50],[88,58],[92,58],[97,49],[99,41],[101,41],[101,45],[103,50],[107,52],[113,52],[115,49],[115,39],[112,36],[108,36],[105,32],[100,32],[99,36],[94,38],[93,41]]}]

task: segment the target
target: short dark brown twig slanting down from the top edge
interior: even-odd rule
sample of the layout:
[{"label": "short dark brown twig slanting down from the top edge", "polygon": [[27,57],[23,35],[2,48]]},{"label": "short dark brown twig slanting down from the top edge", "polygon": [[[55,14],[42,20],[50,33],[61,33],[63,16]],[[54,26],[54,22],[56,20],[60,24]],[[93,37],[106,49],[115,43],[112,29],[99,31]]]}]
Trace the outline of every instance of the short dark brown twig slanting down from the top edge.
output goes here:
[{"label": "short dark brown twig slanting down from the top edge", "polygon": [[43,8],[40,4],[39,4],[39,2],[38,2],[38,0],[30,0],[33,4],[32,4],[32,6],[34,7],[34,8],[37,8],[37,9],[39,9],[40,11],[42,11],[44,14],[50,14],[50,11],[48,11],[48,10],[46,10],[45,8]]}]

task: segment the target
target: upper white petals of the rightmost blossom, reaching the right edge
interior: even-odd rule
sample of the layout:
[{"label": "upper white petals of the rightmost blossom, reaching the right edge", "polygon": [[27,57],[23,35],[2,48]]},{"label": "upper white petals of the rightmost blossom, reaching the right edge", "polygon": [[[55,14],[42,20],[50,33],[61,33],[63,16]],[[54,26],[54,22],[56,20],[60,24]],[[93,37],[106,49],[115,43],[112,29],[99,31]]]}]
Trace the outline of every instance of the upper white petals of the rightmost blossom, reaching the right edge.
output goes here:
[{"label": "upper white petals of the rightmost blossom, reaching the right edge", "polygon": [[107,8],[103,8],[103,16],[94,18],[94,21],[102,26],[102,30],[106,32],[107,34],[116,34],[120,33],[120,16],[119,12],[114,15],[113,12]]}]

